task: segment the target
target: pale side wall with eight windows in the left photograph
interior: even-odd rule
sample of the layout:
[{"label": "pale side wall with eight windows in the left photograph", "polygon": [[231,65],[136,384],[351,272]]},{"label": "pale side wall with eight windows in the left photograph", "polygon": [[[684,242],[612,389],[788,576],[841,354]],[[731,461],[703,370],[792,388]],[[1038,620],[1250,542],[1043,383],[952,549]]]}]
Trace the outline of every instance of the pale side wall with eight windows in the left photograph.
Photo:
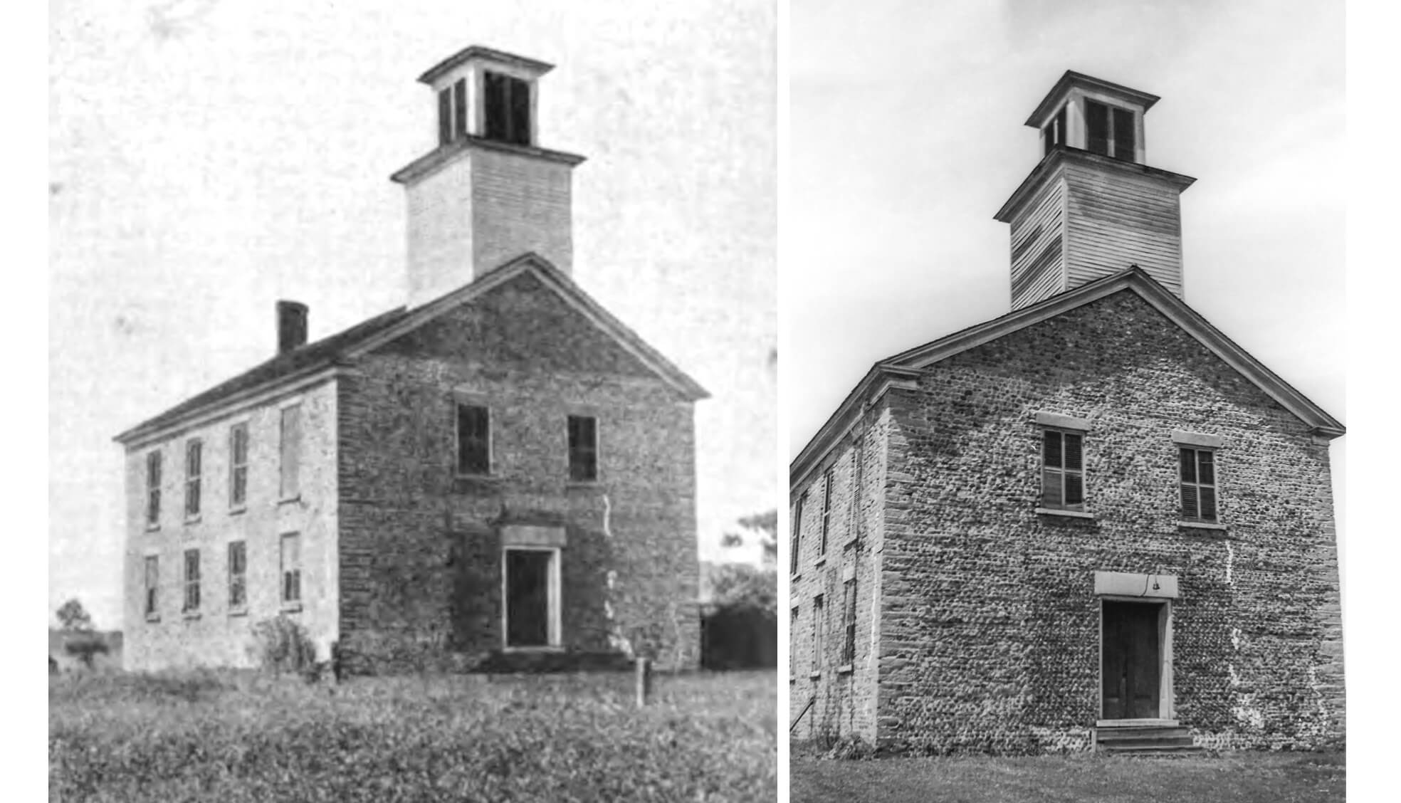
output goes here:
[{"label": "pale side wall with eight windows in the left photograph", "polygon": [[[282,409],[301,409],[300,493],[280,493]],[[286,614],[329,656],[338,633],[336,605],[336,392],[333,381],[269,399],[139,443],[126,453],[125,652],[127,670],[191,666],[252,666],[251,628]],[[233,505],[230,427],[248,427],[247,502]],[[200,510],[185,516],[185,448],[202,441]],[[161,453],[160,523],[146,520],[146,460]],[[297,533],[301,603],[282,601],[283,534]],[[247,605],[230,605],[231,542],[244,542]],[[185,610],[185,552],[199,554],[199,607]],[[149,618],[146,558],[158,561],[157,615]]]}]

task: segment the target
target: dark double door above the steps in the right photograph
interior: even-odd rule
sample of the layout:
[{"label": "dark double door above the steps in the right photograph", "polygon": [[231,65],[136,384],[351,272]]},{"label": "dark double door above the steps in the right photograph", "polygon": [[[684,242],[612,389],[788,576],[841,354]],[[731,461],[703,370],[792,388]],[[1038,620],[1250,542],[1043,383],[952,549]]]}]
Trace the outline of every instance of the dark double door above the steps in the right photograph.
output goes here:
[{"label": "dark double door above the steps in the right photograph", "polygon": [[1104,719],[1159,716],[1160,611],[1160,604],[1104,600]]}]

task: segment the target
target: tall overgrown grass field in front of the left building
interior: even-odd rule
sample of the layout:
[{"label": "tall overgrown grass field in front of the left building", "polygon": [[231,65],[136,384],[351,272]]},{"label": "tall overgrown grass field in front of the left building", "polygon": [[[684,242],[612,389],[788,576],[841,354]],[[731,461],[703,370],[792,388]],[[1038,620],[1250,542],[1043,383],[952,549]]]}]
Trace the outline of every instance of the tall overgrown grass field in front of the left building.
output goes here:
[{"label": "tall overgrown grass field in front of the left building", "polygon": [[773,800],[775,674],[49,682],[52,800]]}]

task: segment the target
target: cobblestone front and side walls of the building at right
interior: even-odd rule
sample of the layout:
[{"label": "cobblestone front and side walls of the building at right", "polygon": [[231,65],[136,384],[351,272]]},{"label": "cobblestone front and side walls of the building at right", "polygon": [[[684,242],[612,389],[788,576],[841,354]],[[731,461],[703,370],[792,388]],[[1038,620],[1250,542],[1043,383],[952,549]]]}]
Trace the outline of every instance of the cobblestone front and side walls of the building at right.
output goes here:
[{"label": "cobblestone front and side walls of the building at right", "polygon": [[[1093,519],[1035,512],[1037,412],[1090,422]],[[871,692],[848,691],[863,681],[860,660],[853,675],[824,667],[810,678],[804,652],[811,596],[821,593],[810,577],[822,467],[835,465],[838,490],[852,482],[842,444],[794,478],[794,499],[807,493],[793,586],[794,713],[818,696],[796,736],[849,734],[920,753],[1089,750],[1100,716],[1094,572],[1129,572],[1178,579],[1164,705],[1198,744],[1342,741],[1328,441],[1136,293],[937,362],[918,390],[888,391],[867,419],[866,437],[880,446],[866,453],[883,461],[866,468],[863,497],[880,506],[870,517],[880,526],[869,524],[855,556],[876,575],[857,573],[862,593],[878,586],[880,615],[863,604],[857,619],[859,633],[876,632]],[[1180,524],[1174,430],[1223,439],[1224,530]],[[834,495],[834,514],[836,499],[846,495]],[[848,559],[831,549],[828,563]],[[839,586],[821,583],[832,594],[828,645],[838,649]]]}]

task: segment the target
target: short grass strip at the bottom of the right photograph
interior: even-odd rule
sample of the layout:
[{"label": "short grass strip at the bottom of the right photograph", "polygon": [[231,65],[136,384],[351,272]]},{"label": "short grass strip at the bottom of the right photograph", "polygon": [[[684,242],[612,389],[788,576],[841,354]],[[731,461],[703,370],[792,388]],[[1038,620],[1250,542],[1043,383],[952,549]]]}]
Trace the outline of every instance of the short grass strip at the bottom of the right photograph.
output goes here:
[{"label": "short grass strip at the bottom of the right photograph", "polygon": [[1342,802],[1344,753],[1220,757],[793,758],[792,803]]}]

